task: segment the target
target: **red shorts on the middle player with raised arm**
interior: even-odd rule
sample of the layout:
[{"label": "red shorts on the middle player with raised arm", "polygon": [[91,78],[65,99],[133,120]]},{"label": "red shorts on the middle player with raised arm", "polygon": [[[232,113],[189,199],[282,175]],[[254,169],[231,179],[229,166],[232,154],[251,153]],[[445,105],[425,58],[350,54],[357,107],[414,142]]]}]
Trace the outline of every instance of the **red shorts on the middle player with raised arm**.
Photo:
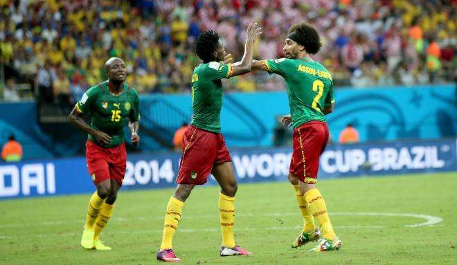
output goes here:
[{"label": "red shorts on the middle player with raised arm", "polygon": [[214,165],[231,161],[222,134],[189,125],[183,135],[183,155],[176,182],[204,184]]}]

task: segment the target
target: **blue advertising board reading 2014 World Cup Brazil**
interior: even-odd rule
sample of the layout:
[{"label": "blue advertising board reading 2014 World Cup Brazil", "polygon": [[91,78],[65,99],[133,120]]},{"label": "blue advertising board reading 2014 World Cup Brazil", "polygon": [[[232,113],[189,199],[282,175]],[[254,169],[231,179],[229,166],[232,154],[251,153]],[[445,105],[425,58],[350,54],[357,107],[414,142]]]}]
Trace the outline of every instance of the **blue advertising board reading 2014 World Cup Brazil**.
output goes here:
[{"label": "blue advertising board reading 2014 World Cup Brazil", "polygon": [[[231,152],[239,183],[287,181],[290,147]],[[172,188],[179,153],[129,155],[123,190]],[[457,170],[457,140],[330,145],[321,156],[319,179]],[[190,177],[190,176],[189,176]],[[212,176],[209,185],[217,182]],[[0,164],[0,198],[93,192],[85,158]]]}]

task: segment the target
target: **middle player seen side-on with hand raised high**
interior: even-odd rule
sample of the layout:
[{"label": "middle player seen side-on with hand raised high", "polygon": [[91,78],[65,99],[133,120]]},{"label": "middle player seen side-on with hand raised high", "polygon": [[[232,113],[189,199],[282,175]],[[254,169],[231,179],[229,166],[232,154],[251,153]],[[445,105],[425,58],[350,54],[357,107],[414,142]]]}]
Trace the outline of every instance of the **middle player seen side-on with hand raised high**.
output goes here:
[{"label": "middle player seen side-on with hand raised high", "polygon": [[222,78],[242,75],[251,70],[253,42],[261,33],[257,24],[249,24],[244,55],[236,66],[224,64],[225,49],[219,35],[206,30],[197,37],[195,49],[203,61],[192,75],[192,109],[194,116],[183,135],[183,155],[177,176],[177,189],[168,201],[163,226],[162,244],[157,259],[180,262],[172,250],[172,238],[177,230],[184,201],[195,185],[206,183],[211,173],[219,183],[219,217],[222,228],[221,256],[249,255],[233,238],[235,193],[237,183],[231,157],[222,137],[220,112],[222,108]]}]

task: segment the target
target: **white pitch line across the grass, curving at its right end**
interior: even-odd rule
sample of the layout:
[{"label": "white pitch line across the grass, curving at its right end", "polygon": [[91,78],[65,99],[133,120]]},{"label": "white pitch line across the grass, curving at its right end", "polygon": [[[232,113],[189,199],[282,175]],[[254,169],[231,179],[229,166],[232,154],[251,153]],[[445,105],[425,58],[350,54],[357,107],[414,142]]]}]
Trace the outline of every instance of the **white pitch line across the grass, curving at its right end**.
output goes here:
[{"label": "white pitch line across the grass, curving at its right end", "polygon": [[[409,213],[393,213],[393,212],[330,212],[330,216],[334,215],[357,215],[357,216],[387,216],[387,217],[413,217],[419,219],[425,219],[426,221],[423,223],[415,223],[406,225],[404,227],[421,227],[421,226],[433,226],[436,223],[442,221],[440,217],[435,217],[433,215],[428,214],[409,214]],[[284,216],[299,216],[298,212],[270,212],[264,214],[237,214],[237,217],[284,217]],[[218,215],[215,214],[206,214],[206,215],[184,215],[183,218],[185,219],[206,219],[206,218],[217,218]],[[158,217],[136,217],[136,218],[125,218],[125,217],[117,217],[114,218],[115,221],[147,221],[152,219],[160,219],[163,220],[163,216]],[[56,225],[63,225],[68,223],[82,223],[84,220],[69,220],[69,221],[43,221],[40,223],[0,223],[0,228],[11,228],[11,227],[24,227],[24,226],[56,226]],[[375,226],[376,228],[384,228],[386,226]],[[1,237],[1,236],[0,236]]]}]

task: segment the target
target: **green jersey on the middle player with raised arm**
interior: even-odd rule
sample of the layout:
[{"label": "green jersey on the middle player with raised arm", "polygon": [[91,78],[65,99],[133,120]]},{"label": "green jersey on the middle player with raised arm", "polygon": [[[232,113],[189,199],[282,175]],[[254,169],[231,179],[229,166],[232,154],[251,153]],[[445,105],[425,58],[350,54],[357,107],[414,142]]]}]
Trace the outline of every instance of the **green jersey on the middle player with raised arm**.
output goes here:
[{"label": "green jersey on the middle player with raised arm", "polygon": [[195,67],[192,75],[191,125],[219,133],[221,131],[222,78],[232,75],[232,66],[209,62]]}]

